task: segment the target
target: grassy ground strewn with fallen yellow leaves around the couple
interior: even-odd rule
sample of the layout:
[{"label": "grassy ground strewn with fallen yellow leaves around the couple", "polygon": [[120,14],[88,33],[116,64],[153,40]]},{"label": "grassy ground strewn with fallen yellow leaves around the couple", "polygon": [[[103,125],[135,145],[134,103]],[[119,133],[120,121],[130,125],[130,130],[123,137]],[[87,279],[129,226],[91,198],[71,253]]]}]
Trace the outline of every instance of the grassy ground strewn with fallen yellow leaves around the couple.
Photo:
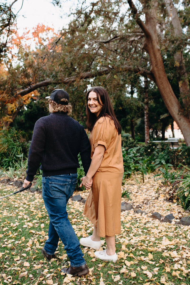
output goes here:
[{"label": "grassy ground strewn with fallen yellow leaves around the couple", "polygon": [[[138,179],[138,180],[137,180]],[[116,236],[118,262],[96,260],[94,250],[81,247],[90,268],[85,277],[64,276],[60,269],[69,259],[60,241],[56,258],[41,255],[48,238],[49,218],[41,193],[21,192],[0,200],[0,285],[2,284],[190,284],[190,226],[176,222],[188,216],[176,201],[166,201],[168,189],[153,174],[126,180],[122,191],[131,193],[134,210],[121,213],[122,230]],[[114,186],[113,186],[114,187]],[[17,189],[0,184],[0,196]],[[88,192],[75,192],[86,198]],[[92,224],[83,216],[84,204],[68,202],[68,215],[77,237],[91,235]],[[148,215],[135,213],[142,209]],[[173,213],[175,220],[162,223],[150,216]],[[106,248],[105,244],[103,249]]]}]

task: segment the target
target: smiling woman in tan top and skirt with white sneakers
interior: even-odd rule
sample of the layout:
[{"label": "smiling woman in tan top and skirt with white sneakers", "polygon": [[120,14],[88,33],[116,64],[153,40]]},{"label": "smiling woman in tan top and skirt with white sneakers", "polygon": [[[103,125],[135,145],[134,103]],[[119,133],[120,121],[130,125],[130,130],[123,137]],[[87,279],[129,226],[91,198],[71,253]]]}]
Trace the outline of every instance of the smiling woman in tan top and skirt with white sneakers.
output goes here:
[{"label": "smiling woman in tan top and skirt with white sneakers", "polygon": [[116,262],[115,235],[120,234],[121,184],[123,159],[121,126],[115,117],[107,91],[93,87],[87,92],[87,127],[91,131],[91,165],[81,180],[86,189],[93,184],[83,214],[94,225],[93,235],[80,239],[80,244],[99,250],[105,237],[107,249],[95,257]]}]

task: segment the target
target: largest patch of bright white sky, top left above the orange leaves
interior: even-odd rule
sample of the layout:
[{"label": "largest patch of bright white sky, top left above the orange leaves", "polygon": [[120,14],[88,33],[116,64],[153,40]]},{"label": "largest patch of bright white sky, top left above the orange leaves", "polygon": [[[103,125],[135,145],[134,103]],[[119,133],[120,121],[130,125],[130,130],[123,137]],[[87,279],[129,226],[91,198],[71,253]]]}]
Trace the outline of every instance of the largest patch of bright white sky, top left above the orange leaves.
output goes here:
[{"label": "largest patch of bright white sky, top left above the orange leaves", "polygon": [[[23,7],[18,13],[17,27],[19,34],[23,33],[23,29],[31,29],[38,23],[54,27],[55,30],[60,30],[62,27],[66,27],[68,23],[67,14],[73,1],[65,1],[64,8],[60,9],[55,7],[52,0],[17,0],[12,6],[15,14],[21,9],[22,2]],[[12,3],[12,1],[10,1]],[[61,19],[62,16],[62,19]]]}]

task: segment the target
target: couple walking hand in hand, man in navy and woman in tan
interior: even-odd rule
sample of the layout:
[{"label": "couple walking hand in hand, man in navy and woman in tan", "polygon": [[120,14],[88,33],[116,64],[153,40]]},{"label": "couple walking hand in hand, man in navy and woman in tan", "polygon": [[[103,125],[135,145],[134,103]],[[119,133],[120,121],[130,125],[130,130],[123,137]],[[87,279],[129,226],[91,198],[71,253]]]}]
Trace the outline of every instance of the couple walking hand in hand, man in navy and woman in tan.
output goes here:
[{"label": "couple walking hand in hand, man in navy and woman in tan", "polygon": [[[33,179],[41,163],[42,197],[50,218],[48,240],[42,248],[47,260],[55,257],[59,238],[70,258],[70,266],[61,272],[82,276],[89,272],[80,244],[97,250],[96,258],[117,261],[115,235],[120,234],[121,184],[123,160],[121,126],[115,117],[107,91],[93,87],[86,95],[86,125],[69,115],[69,95],[55,89],[48,98],[50,114],[35,126],[28,153],[28,169],[23,187]],[[83,214],[93,223],[93,234],[78,240],[68,220],[66,205],[77,183],[78,154],[85,176],[81,185],[90,190]],[[105,237],[107,249],[99,251]]]}]

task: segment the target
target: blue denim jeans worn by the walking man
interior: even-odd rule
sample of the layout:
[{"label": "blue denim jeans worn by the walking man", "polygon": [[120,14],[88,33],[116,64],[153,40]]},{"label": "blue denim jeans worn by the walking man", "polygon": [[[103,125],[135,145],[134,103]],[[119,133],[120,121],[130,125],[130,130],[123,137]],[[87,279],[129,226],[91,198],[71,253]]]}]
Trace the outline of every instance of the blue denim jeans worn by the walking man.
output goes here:
[{"label": "blue denim jeans worn by the walking man", "polygon": [[72,267],[86,263],[66,211],[67,202],[74,192],[76,183],[77,173],[42,177],[42,197],[50,218],[48,240],[44,249],[46,253],[54,254],[60,238]]}]

